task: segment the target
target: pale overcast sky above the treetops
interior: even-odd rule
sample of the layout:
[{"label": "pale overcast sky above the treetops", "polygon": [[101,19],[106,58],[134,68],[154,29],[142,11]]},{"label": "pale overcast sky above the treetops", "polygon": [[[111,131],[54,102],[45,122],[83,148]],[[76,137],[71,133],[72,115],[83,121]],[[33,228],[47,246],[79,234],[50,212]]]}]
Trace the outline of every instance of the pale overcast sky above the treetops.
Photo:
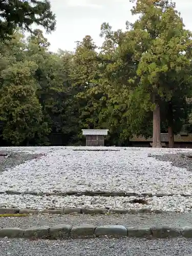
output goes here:
[{"label": "pale overcast sky above the treetops", "polygon": [[[192,0],[175,0],[187,29],[192,30]],[[81,41],[91,35],[97,45],[102,43],[99,37],[100,26],[109,22],[114,30],[125,29],[125,22],[133,22],[129,0],[51,0],[56,15],[56,31],[46,35],[51,43],[50,50],[73,51],[75,41]]]}]

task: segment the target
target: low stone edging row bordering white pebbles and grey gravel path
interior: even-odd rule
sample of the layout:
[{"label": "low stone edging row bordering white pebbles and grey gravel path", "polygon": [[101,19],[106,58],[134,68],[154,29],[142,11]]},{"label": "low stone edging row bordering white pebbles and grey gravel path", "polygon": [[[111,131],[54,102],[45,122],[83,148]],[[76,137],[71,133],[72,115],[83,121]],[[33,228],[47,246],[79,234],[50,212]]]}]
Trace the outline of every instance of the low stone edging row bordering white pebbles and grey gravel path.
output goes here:
[{"label": "low stone edging row bordering white pebbles and grey gravel path", "polygon": [[141,209],[103,209],[103,208],[65,208],[65,209],[18,209],[18,208],[0,208],[0,215],[19,215],[19,214],[161,214],[165,211]]}]

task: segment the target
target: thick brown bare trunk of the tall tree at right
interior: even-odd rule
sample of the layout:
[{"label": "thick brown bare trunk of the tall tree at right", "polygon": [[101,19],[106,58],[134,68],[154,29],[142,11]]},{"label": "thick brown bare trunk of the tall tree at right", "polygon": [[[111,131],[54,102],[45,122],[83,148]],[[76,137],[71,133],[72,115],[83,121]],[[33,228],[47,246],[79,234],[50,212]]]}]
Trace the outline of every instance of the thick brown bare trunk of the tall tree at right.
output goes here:
[{"label": "thick brown bare trunk of the tall tree at right", "polygon": [[153,111],[153,147],[162,147],[160,106],[158,102],[155,102],[155,96],[154,103],[156,104],[156,107]]}]

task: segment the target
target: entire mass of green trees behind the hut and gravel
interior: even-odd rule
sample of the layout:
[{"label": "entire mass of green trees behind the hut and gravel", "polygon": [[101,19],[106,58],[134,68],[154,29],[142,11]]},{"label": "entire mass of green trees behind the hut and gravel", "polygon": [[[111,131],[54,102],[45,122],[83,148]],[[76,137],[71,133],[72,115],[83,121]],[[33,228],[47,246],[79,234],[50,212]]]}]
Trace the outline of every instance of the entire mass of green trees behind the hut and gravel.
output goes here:
[{"label": "entire mass of green trees behind the hut and gravel", "polygon": [[[39,19],[31,20],[51,31],[50,3],[28,1],[31,8],[40,3],[47,14],[39,11]],[[29,30],[32,23],[11,23],[2,34],[10,38],[0,41],[2,144],[77,145],[83,143],[81,129],[109,129],[108,145],[129,145],[133,135],[142,135],[160,147],[164,132],[173,147],[174,134],[192,131],[191,32],[171,1],[133,4],[135,23],[126,22],[125,31],[103,23],[102,46],[87,35],[74,52],[52,53],[41,30],[28,38],[15,30]]]}]

